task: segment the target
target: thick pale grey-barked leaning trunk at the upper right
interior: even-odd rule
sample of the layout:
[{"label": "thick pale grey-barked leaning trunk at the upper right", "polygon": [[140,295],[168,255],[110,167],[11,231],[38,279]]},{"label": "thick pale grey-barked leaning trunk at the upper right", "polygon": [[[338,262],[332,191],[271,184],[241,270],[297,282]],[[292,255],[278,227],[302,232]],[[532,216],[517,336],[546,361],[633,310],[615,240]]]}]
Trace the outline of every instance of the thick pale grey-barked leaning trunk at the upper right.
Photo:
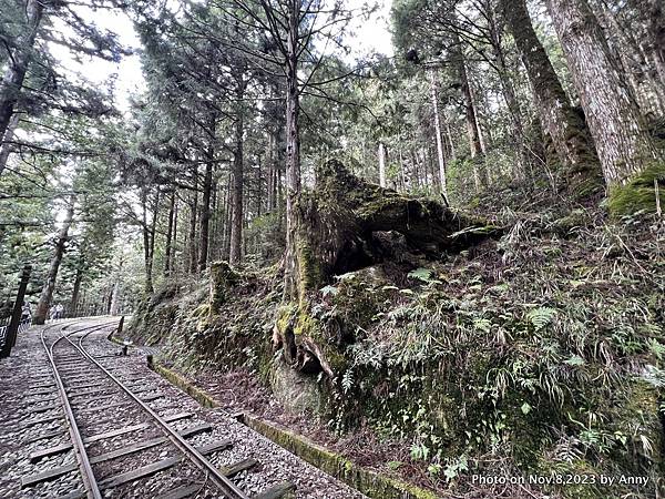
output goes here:
[{"label": "thick pale grey-barked leaning trunk at the upper right", "polygon": [[548,0],[608,186],[623,184],[656,154],[635,96],[586,0]]}]

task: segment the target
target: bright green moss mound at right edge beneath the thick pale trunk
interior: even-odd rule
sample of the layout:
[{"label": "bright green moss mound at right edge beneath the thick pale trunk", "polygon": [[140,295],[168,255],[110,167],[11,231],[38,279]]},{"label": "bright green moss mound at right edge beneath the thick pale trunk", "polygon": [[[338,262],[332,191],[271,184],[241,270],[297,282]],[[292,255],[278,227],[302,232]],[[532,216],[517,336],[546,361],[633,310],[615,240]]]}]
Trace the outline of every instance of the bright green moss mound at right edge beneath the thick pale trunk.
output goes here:
[{"label": "bright green moss mound at right edge beneath the thick pale trunk", "polygon": [[655,213],[656,195],[654,182],[658,184],[661,210],[665,211],[665,162],[652,163],[625,185],[611,189],[607,210],[612,216],[632,215],[644,211]]}]

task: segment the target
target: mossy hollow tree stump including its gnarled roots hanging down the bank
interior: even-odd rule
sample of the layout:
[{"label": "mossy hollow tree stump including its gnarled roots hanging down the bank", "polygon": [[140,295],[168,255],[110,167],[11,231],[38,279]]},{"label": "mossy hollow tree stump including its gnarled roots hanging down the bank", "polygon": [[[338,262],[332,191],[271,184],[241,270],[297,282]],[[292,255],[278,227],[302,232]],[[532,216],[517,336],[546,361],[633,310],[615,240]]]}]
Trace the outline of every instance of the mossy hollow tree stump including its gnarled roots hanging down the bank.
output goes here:
[{"label": "mossy hollow tree stump including its gnarled roots hanging down the bank", "polygon": [[325,373],[345,368],[344,345],[335,344],[311,310],[309,295],[334,276],[386,259],[440,258],[474,245],[500,230],[428,198],[416,198],[370,184],[340,162],[316,170],[316,189],[296,203],[297,301],[278,314],[273,346],[291,367]]}]

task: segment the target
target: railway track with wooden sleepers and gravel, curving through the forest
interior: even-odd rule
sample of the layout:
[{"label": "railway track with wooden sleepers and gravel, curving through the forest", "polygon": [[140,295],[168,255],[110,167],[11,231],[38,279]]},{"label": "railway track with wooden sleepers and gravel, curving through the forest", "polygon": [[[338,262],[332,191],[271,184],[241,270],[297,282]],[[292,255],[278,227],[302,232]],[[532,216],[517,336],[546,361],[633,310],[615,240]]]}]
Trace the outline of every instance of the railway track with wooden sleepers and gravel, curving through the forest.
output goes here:
[{"label": "railway track with wooden sleepers and gravel, curving through the forest", "polygon": [[[165,499],[276,499],[293,491],[294,487],[285,481],[255,495],[245,493],[233,478],[259,467],[256,459],[215,466],[211,458],[232,449],[233,438],[202,440],[213,430],[209,424],[192,424],[193,414],[160,406],[163,395],[141,377],[133,377],[131,366],[123,361],[125,357],[110,355],[108,349],[95,355],[93,348],[86,347],[90,335],[105,334],[116,325],[116,320],[93,325],[68,322],[42,329],[41,344],[52,379],[44,376],[31,387],[41,397],[34,400],[32,414],[43,414],[59,401],[70,438],[40,447],[29,458],[38,462],[73,451],[75,462],[23,476],[21,489],[25,497],[41,496],[31,495],[30,490],[72,472],[79,473],[80,481],[59,495],[61,499],[149,497],[145,481],[151,478],[152,491],[156,493],[150,497]],[[43,439],[52,434],[44,434]],[[195,445],[192,439],[196,438]],[[155,477],[160,477],[158,487]]]}]

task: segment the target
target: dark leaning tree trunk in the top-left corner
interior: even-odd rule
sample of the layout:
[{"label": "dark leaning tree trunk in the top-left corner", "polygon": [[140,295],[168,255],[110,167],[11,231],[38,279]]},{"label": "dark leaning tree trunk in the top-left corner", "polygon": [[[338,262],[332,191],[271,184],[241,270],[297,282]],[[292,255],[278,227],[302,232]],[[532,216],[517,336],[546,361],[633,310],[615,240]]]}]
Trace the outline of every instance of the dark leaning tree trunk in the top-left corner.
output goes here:
[{"label": "dark leaning tree trunk in the top-left corner", "polygon": [[[28,0],[25,6],[25,29],[17,39],[17,49],[11,54],[0,84],[0,138],[3,138],[19,100],[25,73],[32,59],[34,39],[42,19],[43,0]],[[0,172],[2,173],[2,172]]]}]

